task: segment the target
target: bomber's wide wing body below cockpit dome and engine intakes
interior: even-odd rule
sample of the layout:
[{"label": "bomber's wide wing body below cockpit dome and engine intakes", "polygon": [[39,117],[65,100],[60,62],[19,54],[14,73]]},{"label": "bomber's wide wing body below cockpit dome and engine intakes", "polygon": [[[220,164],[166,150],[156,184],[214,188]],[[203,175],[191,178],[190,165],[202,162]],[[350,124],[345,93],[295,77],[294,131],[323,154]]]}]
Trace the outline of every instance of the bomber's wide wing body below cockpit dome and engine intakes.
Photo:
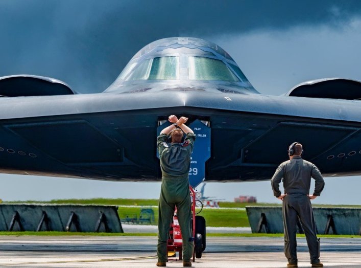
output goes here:
[{"label": "bomber's wide wing body below cockpit dome and engine intakes", "polygon": [[361,174],[356,100],[179,89],[0,101],[5,173],[160,180],[156,131],[159,121],[175,114],[209,122],[206,181],[268,180],[294,141],[325,175]]}]

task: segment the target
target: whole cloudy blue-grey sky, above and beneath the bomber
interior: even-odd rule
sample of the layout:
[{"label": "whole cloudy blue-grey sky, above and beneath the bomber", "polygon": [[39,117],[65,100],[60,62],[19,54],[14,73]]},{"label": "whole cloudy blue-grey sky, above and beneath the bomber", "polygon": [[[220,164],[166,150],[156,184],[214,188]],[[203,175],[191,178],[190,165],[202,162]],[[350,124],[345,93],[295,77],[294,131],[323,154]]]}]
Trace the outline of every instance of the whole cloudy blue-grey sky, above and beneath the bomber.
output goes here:
[{"label": "whole cloudy blue-grey sky, above and beneath the bomber", "polygon": [[[283,94],[317,78],[361,80],[361,1],[0,0],[0,33],[0,76],[49,76],[80,93],[104,91],[139,49],[172,36],[219,44],[264,94]],[[160,187],[7,174],[0,179],[3,200],[158,198]],[[360,187],[359,176],[326,178],[316,203],[360,204]],[[205,194],[275,202],[269,182],[207,184]]]}]

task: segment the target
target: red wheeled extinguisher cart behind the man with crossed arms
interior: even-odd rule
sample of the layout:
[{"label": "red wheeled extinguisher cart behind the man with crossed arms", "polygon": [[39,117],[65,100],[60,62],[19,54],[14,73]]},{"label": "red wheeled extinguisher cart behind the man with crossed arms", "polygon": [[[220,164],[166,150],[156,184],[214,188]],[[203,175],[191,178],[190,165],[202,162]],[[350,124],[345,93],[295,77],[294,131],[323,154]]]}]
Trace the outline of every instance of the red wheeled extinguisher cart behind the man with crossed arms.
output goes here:
[{"label": "red wheeled extinguisher cart behind the man with crossed arms", "polygon": [[[201,207],[202,210],[202,203],[200,200],[197,200],[196,192],[193,188],[189,187],[189,193],[191,198],[191,229],[192,235],[194,237],[195,243],[195,250],[193,252],[193,262],[195,261],[195,257],[197,259],[202,257],[202,251],[206,248],[206,221],[202,216],[196,216],[196,203],[197,207]],[[201,211],[198,211],[199,213]],[[174,251],[179,253],[179,259],[174,260],[182,260],[182,233],[180,230],[180,226],[178,224],[177,218],[177,208],[174,211],[173,221],[171,223],[171,229],[169,232],[169,238],[167,242],[167,255],[169,251]]]}]

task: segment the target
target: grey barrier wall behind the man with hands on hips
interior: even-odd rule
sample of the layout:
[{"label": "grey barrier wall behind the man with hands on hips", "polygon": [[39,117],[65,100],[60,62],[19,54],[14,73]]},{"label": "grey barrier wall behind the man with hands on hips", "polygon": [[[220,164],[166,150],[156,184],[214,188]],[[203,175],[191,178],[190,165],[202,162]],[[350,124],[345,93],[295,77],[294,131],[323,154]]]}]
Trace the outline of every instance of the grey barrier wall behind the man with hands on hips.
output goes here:
[{"label": "grey barrier wall behind the man with hands on hips", "polygon": [[[283,233],[281,207],[246,207],[252,233]],[[314,208],[318,234],[361,235],[361,208]],[[298,232],[303,233],[300,222]]]}]

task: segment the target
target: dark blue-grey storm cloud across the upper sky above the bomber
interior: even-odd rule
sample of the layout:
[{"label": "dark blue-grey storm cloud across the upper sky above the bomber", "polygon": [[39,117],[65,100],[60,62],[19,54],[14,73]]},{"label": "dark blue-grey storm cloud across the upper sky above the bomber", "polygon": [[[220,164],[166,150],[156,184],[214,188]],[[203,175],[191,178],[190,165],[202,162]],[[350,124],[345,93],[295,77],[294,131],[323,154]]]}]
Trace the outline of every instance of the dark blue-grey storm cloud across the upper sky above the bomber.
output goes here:
[{"label": "dark blue-grey storm cloud across the upper sky above the bomber", "polygon": [[139,49],[160,38],[337,30],[360,15],[359,1],[3,0],[0,76],[49,76],[82,93],[102,92]]}]

